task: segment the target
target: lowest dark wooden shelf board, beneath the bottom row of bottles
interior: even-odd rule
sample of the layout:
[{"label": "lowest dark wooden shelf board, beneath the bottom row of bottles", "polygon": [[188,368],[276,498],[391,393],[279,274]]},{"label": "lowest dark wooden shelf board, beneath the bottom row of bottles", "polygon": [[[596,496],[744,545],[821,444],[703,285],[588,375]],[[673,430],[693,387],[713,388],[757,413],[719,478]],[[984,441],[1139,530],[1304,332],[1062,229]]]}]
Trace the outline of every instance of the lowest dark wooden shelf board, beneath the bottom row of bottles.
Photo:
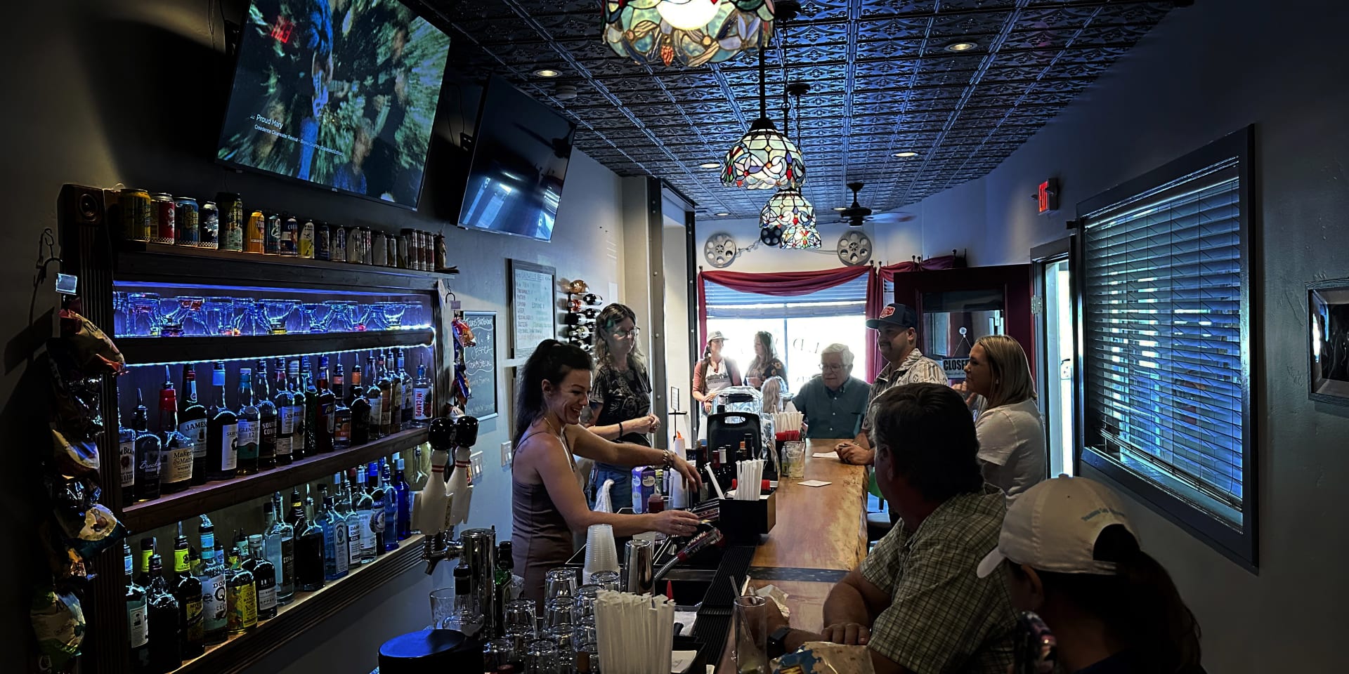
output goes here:
[{"label": "lowest dark wooden shelf board, beneath the bottom row of bottles", "polygon": [[233,635],[223,643],[206,646],[206,652],[183,661],[181,667],[173,670],[173,674],[197,671],[233,674],[247,670],[285,646],[286,642],[379,589],[398,574],[422,563],[421,550],[425,538],[421,534],[413,535],[402,541],[398,550],[384,553],[374,562],[352,569],[347,576],[328,581],[314,592],[297,590],[295,599],[281,607],[277,617],[263,620],[251,631]]}]

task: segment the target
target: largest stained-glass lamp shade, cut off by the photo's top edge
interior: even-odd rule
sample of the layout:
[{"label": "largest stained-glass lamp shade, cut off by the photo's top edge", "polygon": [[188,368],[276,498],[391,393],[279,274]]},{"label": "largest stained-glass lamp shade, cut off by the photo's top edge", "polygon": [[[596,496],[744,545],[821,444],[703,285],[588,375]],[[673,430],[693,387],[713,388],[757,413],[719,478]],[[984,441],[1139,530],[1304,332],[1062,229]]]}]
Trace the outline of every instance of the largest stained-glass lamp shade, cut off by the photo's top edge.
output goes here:
[{"label": "largest stained-glass lamp shade, cut off by the photo's top edge", "polygon": [[604,43],[638,63],[720,63],[773,35],[773,0],[604,0]]}]

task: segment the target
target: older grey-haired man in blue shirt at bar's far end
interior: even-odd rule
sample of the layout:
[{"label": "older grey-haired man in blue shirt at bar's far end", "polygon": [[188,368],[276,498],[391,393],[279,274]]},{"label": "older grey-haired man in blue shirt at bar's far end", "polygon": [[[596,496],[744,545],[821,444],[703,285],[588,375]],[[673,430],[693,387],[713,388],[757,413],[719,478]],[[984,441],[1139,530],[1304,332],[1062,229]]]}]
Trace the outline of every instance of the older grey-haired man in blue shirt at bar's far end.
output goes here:
[{"label": "older grey-haired man in blue shirt at bar's far end", "polygon": [[805,415],[805,437],[854,438],[869,395],[866,381],[853,376],[853,352],[843,344],[830,344],[820,352],[820,373],[792,396],[792,404]]}]

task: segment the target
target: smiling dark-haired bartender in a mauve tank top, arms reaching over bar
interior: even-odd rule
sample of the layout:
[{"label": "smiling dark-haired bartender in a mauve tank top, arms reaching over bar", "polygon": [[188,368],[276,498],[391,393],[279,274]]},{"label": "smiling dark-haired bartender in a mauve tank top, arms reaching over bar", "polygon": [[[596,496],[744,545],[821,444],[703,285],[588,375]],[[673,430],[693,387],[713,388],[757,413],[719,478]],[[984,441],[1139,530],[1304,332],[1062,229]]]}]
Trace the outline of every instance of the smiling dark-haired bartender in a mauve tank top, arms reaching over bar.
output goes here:
[{"label": "smiling dark-haired bartender in a mauve tank top, arms reaching over bar", "polygon": [[580,426],[581,410],[590,403],[591,367],[584,350],[544,340],[521,372],[513,435],[511,542],[517,573],[525,577],[525,599],[542,600],[544,576],[573,553],[573,531],[612,524],[615,537],[645,531],[687,537],[697,528],[697,518],[687,511],[616,515],[587,507],[572,454],[622,466],[664,464],[679,470],[685,485],[700,484],[697,470],[670,452],[610,442]]}]

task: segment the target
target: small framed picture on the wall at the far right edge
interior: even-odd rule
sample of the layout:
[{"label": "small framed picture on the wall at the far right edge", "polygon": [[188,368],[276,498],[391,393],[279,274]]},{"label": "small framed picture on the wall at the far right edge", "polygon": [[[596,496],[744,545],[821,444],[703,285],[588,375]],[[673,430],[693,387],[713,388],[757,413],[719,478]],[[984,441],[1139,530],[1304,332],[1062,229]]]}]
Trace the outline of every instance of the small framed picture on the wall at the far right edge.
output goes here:
[{"label": "small framed picture on the wall at the far right edge", "polygon": [[1349,279],[1307,283],[1307,395],[1349,406]]}]

